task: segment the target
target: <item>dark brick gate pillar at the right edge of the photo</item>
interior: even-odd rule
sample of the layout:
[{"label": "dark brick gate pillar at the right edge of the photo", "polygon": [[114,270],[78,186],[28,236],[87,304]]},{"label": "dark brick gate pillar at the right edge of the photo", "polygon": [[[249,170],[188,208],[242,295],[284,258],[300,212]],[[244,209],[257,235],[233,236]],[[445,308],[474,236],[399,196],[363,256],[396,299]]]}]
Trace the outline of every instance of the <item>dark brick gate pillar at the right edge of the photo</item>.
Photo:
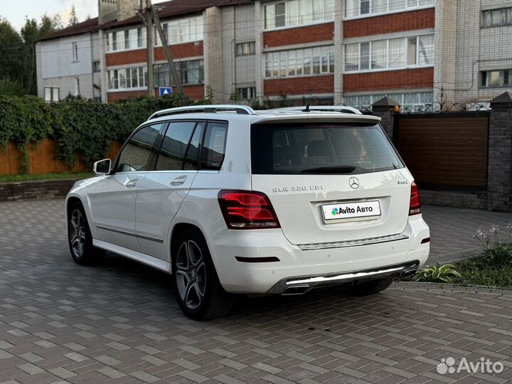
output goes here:
[{"label": "dark brick gate pillar at the right edge of the photo", "polygon": [[491,100],[487,195],[488,210],[512,212],[512,92]]}]

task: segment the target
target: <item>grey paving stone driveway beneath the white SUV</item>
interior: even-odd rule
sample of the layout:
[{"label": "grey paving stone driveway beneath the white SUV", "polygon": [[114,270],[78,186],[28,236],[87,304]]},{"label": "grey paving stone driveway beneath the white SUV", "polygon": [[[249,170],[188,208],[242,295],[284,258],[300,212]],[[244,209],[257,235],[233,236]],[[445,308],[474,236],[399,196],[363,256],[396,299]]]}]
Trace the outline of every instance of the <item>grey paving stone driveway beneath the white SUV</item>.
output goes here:
[{"label": "grey paving stone driveway beneath the white SUV", "polygon": [[[62,208],[0,203],[0,383],[512,380],[512,292],[396,284],[375,297],[246,299],[196,322],[165,274],[114,255],[75,265]],[[448,357],[504,370],[438,374]]]}]

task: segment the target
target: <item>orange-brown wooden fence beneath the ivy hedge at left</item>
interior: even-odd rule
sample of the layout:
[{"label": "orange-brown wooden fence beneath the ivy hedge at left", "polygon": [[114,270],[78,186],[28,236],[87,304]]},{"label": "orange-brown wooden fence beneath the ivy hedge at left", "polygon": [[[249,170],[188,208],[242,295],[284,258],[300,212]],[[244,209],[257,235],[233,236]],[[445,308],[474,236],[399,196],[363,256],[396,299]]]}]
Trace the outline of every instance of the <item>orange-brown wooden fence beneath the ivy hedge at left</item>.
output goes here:
[{"label": "orange-brown wooden fence beneath the ivy hedge at left", "polygon": [[[105,157],[114,159],[122,144],[114,143]],[[101,159],[98,159],[101,160]],[[21,151],[15,144],[9,143],[6,151],[0,150],[0,176],[17,175],[21,172]],[[77,155],[75,166],[70,167],[57,158],[57,144],[50,139],[29,144],[28,146],[28,174],[61,174],[64,172],[92,171],[89,166]]]}]

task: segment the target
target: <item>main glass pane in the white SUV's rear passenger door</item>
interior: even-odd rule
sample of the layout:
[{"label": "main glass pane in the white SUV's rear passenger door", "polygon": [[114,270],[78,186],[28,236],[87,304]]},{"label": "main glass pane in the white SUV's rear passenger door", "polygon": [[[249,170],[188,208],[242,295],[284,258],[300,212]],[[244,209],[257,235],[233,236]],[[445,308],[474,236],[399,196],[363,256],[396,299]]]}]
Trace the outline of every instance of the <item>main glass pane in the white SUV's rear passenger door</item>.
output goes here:
[{"label": "main glass pane in the white SUV's rear passenger door", "polygon": [[[183,169],[188,143],[196,122],[171,122],[160,147],[156,171],[179,171]],[[195,136],[195,135],[194,135]]]}]

